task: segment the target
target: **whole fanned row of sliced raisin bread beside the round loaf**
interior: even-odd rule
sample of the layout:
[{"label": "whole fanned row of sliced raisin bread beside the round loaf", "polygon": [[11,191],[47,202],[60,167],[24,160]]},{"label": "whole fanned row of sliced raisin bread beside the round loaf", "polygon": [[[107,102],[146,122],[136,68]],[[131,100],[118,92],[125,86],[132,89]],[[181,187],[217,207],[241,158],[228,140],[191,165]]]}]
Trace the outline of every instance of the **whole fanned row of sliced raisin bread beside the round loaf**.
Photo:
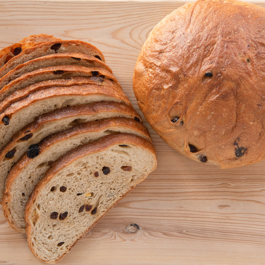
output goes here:
[{"label": "whole fanned row of sliced raisin bread beside the round loaf", "polygon": [[4,215],[55,263],[156,168],[155,149],[95,46],[34,35],[0,67]]}]

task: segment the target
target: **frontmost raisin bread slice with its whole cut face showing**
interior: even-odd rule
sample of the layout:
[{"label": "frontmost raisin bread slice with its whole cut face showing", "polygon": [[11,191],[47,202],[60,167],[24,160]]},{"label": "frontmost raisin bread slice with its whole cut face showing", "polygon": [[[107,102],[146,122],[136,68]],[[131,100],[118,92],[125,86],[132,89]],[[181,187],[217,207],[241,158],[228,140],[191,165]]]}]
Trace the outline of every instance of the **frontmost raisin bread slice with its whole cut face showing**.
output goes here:
[{"label": "frontmost raisin bread slice with its whole cut face showing", "polygon": [[155,168],[152,143],[131,134],[107,135],[60,157],[26,205],[32,253],[44,262],[60,260]]}]

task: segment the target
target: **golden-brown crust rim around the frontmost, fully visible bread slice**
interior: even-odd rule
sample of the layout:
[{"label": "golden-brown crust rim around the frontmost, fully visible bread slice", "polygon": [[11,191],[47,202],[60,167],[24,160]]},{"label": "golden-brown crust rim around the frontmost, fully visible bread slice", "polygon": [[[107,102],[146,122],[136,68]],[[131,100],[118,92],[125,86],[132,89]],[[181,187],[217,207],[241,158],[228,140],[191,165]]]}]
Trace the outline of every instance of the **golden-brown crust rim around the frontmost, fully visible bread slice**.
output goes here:
[{"label": "golden-brown crust rim around the frontmost, fully visible bread slice", "polygon": [[[28,240],[28,244],[29,244],[29,248],[32,251],[32,253],[40,260],[42,260],[43,262],[47,262],[47,260],[43,260],[41,257],[38,257],[38,255],[35,253],[34,249],[32,248],[32,241],[31,241],[31,222],[30,222],[30,211],[31,211],[31,207],[33,206],[34,200],[36,198],[36,196],[38,195],[39,190],[42,189],[42,187],[45,186],[45,184],[52,178],[52,176],[59,171],[62,167],[64,167],[65,165],[71,163],[73,160],[78,159],[79,157],[82,157],[86,154],[92,154],[92,153],[97,153],[99,151],[102,151],[106,148],[108,148],[109,146],[113,145],[113,144],[124,144],[124,143],[128,143],[131,145],[138,145],[141,146],[144,149],[149,149],[150,152],[153,154],[153,168],[152,170],[154,170],[156,168],[156,151],[152,145],[151,142],[149,142],[146,139],[143,139],[139,136],[135,136],[132,134],[123,134],[123,133],[119,133],[119,134],[111,134],[111,135],[107,135],[104,138],[100,139],[97,142],[92,142],[89,144],[85,144],[85,145],[81,145],[77,148],[75,148],[74,150],[68,152],[67,154],[65,154],[64,156],[60,157],[57,161],[55,161],[51,167],[46,171],[45,176],[43,177],[43,179],[35,186],[34,191],[32,192],[32,195],[30,196],[27,205],[26,205],[26,209],[25,209],[25,222],[26,222],[26,235],[27,235],[27,240]],[[151,171],[152,171],[151,170]],[[143,177],[141,180],[139,180],[139,182],[141,182],[145,177]],[[139,183],[138,182],[138,183]],[[133,187],[131,187],[130,189],[128,189],[127,193],[124,194],[118,201],[116,201],[115,204],[113,204],[105,213],[104,215],[111,210],[123,197],[125,197],[129,192],[131,192],[133,189],[135,188],[135,185]],[[63,255],[61,255],[58,259],[56,259],[55,262],[48,262],[48,263],[56,263],[59,260],[61,260],[65,254],[67,254],[69,252],[70,249],[72,249],[72,247],[96,224],[98,223],[98,221],[104,216],[102,215],[100,218],[98,218],[93,224],[92,226],[90,226],[85,233],[83,233],[80,238],[74,242],[71,246],[69,246],[69,249],[67,251],[65,251],[65,253]]]}]

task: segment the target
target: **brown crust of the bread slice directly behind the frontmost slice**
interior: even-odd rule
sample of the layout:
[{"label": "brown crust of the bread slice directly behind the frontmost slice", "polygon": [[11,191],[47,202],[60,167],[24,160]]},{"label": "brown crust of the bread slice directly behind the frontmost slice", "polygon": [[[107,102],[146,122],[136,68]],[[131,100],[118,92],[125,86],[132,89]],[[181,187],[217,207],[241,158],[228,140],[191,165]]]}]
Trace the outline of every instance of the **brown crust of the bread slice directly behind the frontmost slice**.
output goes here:
[{"label": "brown crust of the bread slice directly behind the frontmost slice", "polygon": [[[145,138],[149,142],[152,142],[149,132],[147,128],[143,125],[143,123],[139,123],[134,119],[130,118],[115,117],[115,118],[101,119],[97,121],[81,123],[79,125],[72,127],[71,129],[60,131],[58,133],[47,136],[46,138],[41,140],[40,143],[38,143],[39,155],[45,152],[46,150],[50,152],[49,149],[51,148],[51,146],[54,145],[61,146],[62,144],[64,144],[64,142],[69,141],[69,139],[77,137],[78,135],[84,135],[83,137],[85,138],[85,137],[90,137],[90,133],[93,135],[98,133],[98,135],[100,135],[100,132],[107,130],[113,132],[115,131],[116,133],[126,132],[127,130],[130,131],[131,134],[138,135],[142,138]],[[99,139],[100,138],[98,138],[97,140]],[[45,154],[45,156],[47,156],[47,153]],[[50,160],[50,158],[47,159]],[[22,233],[25,232],[24,228],[19,226],[17,224],[17,221],[14,220],[17,219],[17,217],[14,216],[16,215],[16,213],[13,212],[11,215],[8,209],[10,207],[11,201],[15,200],[16,203],[16,201],[19,200],[19,198],[14,197],[14,193],[12,192],[12,190],[14,191],[15,187],[13,187],[13,185],[16,185],[14,183],[16,182],[17,179],[20,179],[20,176],[22,174],[21,170],[24,170],[24,168],[27,167],[27,165],[29,165],[31,162],[34,162],[34,158],[29,158],[27,156],[27,152],[25,152],[20,157],[20,159],[15,163],[15,165],[11,168],[6,179],[5,192],[3,193],[3,200],[2,200],[3,213],[10,227]],[[36,180],[32,175],[31,177],[32,181],[36,182]],[[24,180],[21,179],[20,183],[21,185],[23,183],[24,186]],[[20,205],[20,207],[22,206]]]}]

